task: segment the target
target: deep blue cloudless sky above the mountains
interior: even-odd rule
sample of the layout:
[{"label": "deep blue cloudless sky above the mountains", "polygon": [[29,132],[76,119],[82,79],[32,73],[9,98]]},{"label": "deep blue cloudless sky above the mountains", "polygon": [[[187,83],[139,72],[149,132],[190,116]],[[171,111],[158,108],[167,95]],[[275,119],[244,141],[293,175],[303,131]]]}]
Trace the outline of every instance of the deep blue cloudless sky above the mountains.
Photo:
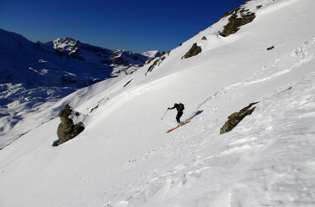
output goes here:
[{"label": "deep blue cloudless sky above the mountains", "polygon": [[177,47],[245,0],[0,0],[0,28],[32,42],[72,37],[133,52]]}]

